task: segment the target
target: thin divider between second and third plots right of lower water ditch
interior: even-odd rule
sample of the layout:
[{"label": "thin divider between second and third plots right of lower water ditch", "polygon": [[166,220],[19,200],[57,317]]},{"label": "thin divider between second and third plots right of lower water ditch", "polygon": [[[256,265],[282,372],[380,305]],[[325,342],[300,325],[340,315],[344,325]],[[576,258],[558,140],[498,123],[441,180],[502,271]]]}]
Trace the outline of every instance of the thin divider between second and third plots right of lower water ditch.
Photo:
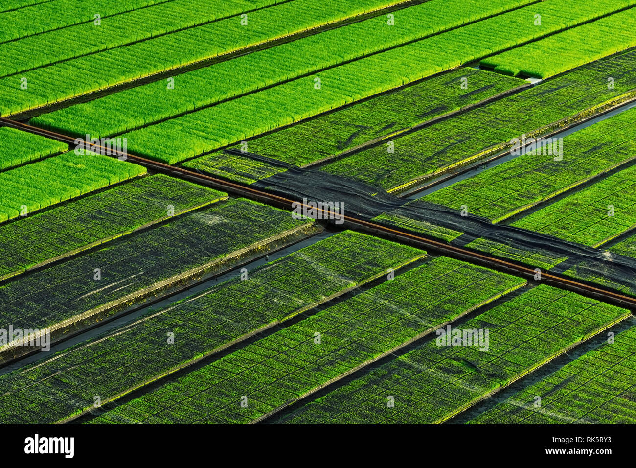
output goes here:
[{"label": "thin divider between second and third plots right of lower water ditch", "polygon": [[293,398],[288,400],[287,402],[285,402],[284,404],[280,405],[278,408],[273,409],[272,411],[270,411],[269,413],[266,413],[265,415],[259,416],[258,418],[252,420],[252,422],[250,422],[250,424],[258,424],[260,422],[265,421],[266,419],[270,418],[273,415],[276,415],[277,413],[279,413],[280,411],[282,411],[283,409],[287,408],[287,406],[290,406],[292,404],[296,404],[300,401],[302,401],[303,399],[309,397],[312,394],[315,394],[315,392],[319,392],[321,390],[324,390],[326,387],[332,385],[333,383],[336,383],[337,381],[340,381],[343,378],[346,378],[348,376],[350,376],[351,374],[353,374],[354,372],[360,371],[361,369],[364,369],[365,367],[368,367],[369,365],[373,364],[374,362],[377,362],[378,360],[384,359],[385,357],[388,357],[389,355],[395,353],[396,351],[402,350],[403,348],[406,348],[406,346],[409,346],[410,344],[415,343],[416,341],[420,341],[420,339],[424,339],[425,337],[429,336],[432,334],[432,332],[446,327],[447,325],[451,325],[452,323],[458,322],[459,320],[461,320],[462,318],[464,318],[466,315],[472,313],[473,311],[475,311],[476,309],[479,309],[483,306],[486,306],[487,304],[490,304],[490,302],[496,301],[497,299],[499,299],[500,297],[503,297],[519,288],[525,287],[527,285],[527,281],[523,282],[523,283],[518,283],[515,286],[509,287],[508,289],[504,290],[503,292],[499,292],[498,294],[493,295],[492,297],[489,297],[488,299],[485,299],[484,301],[481,301],[479,304],[474,305],[473,307],[466,309],[465,311],[463,311],[462,313],[460,313],[459,315],[453,317],[450,320],[446,320],[443,323],[439,323],[439,325],[433,325],[432,327],[429,327],[429,329],[425,330],[424,332],[418,333],[416,336],[411,337],[410,339],[408,339],[407,341],[404,341],[401,344],[398,344],[397,346],[394,346],[393,348],[391,348],[388,351],[384,351],[384,353],[368,359],[366,361],[364,361],[361,364],[356,365],[356,367],[352,367],[352,369],[349,369],[349,371],[347,372],[343,372],[342,374],[329,379],[328,381],[326,381],[325,383],[322,383],[321,385],[315,386],[314,388],[312,388],[312,390],[310,390],[309,392],[300,395],[299,397]]}]

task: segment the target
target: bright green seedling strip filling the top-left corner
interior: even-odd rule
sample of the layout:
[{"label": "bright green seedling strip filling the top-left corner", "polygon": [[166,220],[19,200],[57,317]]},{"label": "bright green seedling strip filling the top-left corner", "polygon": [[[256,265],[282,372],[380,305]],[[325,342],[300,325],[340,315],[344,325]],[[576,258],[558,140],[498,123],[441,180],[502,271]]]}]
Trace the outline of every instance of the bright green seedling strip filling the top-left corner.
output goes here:
[{"label": "bright green seedling strip filling the top-left corner", "polygon": [[[164,1],[102,0],[99,6],[86,8],[85,3],[76,0],[3,0],[0,6],[0,43],[83,22],[93,24],[96,13],[105,18]],[[14,8],[20,10],[7,11]]]}]

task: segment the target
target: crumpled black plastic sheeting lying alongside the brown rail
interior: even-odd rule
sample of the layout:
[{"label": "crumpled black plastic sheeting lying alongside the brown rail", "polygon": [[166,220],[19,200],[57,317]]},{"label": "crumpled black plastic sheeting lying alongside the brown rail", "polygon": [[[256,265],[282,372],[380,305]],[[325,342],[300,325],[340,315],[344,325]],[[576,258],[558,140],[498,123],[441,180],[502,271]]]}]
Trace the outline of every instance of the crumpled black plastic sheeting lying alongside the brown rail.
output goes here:
[{"label": "crumpled black plastic sheeting lying alongside the brown rail", "polygon": [[492,224],[490,220],[481,216],[461,216],[458,210],[421,199],[401,199],[387,194],[384,190],[342,176],[294,168],[258,181],[252,184],[252,187],[266,189],[299,201],[306,198],[315,202],[344,202],[344,213],[347,216],[363,220],[371,220],[382,213],[392,212],[394,215],[425,220],[434,225],[464,232],[464,236],[455,241],[484,238],[530,253],[548,251],[555,258],[567,257],[565,262],[551,270],[553,272],[562,272],[577,266],[577,277],[583,281],[588,276],[602,276],[604,281],[600,284],[604,287],[612,288],[613,285],[616,290],[620,290],[621,287],[636,288],[636,259],[624,255],[609,255],[604,250],[563,241],[539,232]]}]

